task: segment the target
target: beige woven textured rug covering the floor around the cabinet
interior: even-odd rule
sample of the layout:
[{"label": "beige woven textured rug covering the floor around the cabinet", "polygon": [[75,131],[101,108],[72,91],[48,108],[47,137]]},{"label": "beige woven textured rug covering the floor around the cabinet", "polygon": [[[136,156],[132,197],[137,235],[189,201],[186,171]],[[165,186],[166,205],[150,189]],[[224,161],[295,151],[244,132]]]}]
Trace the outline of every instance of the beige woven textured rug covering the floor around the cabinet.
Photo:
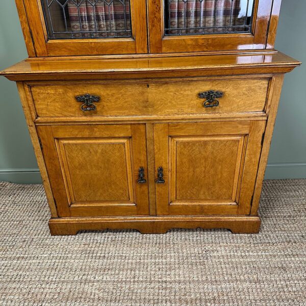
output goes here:
[{"label": "beige woven textured rug covering the floor around the cabinet", "polygon": [[260,234],[51,237],[41,185],[0,182],[1,305],[306,305],[306,180],[266,181]]}]

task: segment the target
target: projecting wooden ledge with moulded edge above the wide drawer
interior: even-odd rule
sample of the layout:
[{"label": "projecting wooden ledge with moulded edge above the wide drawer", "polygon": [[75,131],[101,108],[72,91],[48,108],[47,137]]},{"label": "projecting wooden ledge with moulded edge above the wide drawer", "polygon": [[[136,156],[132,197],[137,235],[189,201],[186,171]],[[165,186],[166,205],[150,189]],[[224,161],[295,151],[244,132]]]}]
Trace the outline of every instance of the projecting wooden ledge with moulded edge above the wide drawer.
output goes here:
[{"label": "projecting wooden ledge with moulded edge above the wide drawer", "polygon": [[[261,56],[261,60],[253,57]],[[271,58],[269,58],[271,57]],[[241,58],[241,62],[240,59]],[[266,59],[268,59],[266,61]],[[274,60],[273,60],[274,59]],[[170,65],[169,61],[172,61]],[[173,61],[175,64],[173,64]],[[205,55],[180,57],[147,57],[136,59],[66,59],[54,69],[53,61],[23,60],[3,71],[11,81],[50,81],[50,80],[120,80],[143,78],[181,78],[220,75],[286,73],[299,66],[301,62],[281,53],[270,55],[256,54],[247,58],[244,55]],[[84,65],[87,63],[87,65]],[[87,68],[86,68],[87,67]]]}]

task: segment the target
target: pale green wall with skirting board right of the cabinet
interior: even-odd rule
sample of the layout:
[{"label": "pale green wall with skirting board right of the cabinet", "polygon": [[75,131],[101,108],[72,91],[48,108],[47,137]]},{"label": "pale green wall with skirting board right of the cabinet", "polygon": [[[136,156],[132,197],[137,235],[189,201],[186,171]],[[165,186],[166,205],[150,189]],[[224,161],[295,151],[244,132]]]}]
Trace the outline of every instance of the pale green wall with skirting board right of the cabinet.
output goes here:
[{"label": "pale green wall with skirting board right of the cabinet", "polygon": [[271,143],[268,179],[306,178],[305,0],[283,0],[275,48],[303,62],[286,74]]}]

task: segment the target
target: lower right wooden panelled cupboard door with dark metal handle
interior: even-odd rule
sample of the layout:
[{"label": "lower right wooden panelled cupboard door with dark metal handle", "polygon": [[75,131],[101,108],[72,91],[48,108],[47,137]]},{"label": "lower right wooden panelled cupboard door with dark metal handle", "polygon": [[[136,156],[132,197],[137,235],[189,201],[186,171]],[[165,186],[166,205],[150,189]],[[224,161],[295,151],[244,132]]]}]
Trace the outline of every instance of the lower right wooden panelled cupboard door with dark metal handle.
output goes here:
[{"label": "lower right wooden panelled cupboard door with dark metal handle", "polygon": [[155,124],[157,214],[249,214],[264,129],[265,121]]}]

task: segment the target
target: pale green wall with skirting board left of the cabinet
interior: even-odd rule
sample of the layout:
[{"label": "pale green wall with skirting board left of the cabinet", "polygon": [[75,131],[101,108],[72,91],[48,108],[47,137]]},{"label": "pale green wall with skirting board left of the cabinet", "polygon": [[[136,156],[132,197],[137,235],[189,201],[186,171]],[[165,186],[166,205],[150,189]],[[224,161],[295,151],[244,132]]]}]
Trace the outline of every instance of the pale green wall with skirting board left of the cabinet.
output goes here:
[{"label": "pale green wall with skirting board left of the cabinet", "polygon": [[[13,0],[0,10],[0,70],[27,57]],[[0,181],[40,182],[16,84],[0,77]]]}]

